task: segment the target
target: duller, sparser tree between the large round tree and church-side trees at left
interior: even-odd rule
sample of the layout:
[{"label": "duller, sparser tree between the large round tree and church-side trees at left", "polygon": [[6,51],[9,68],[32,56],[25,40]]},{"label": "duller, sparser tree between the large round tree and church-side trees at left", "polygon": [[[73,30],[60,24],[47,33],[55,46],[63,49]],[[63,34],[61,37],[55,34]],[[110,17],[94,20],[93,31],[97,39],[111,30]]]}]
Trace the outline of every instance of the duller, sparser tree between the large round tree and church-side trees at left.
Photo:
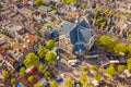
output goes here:
[{"label": "duller, sparser tree between the large round tree and church-side trees at left", "polygon": [[37,49],[38,57],[45,58],[46,53],[48,52],[48,49],[46,49],[44,46],[39,45]]}]

